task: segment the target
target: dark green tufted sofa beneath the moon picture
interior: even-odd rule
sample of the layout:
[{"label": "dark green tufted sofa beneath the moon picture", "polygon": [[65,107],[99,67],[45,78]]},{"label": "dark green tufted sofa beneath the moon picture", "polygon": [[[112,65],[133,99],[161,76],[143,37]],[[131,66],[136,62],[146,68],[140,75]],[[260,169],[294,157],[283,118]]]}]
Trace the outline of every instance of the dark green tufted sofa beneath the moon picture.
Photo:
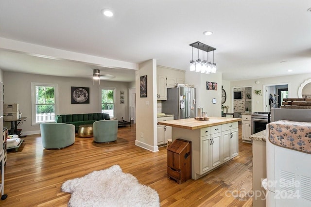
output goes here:
[{"label": "dark green tufted sofa beneath the moon picture", "polygon": [[80,125],[93,124],[95,121],[109,120],[110,116],[108,113],[81,113],[81,114],[63,114],[56,115],[56,123],[66,123],[75,126],[76,132]]}]

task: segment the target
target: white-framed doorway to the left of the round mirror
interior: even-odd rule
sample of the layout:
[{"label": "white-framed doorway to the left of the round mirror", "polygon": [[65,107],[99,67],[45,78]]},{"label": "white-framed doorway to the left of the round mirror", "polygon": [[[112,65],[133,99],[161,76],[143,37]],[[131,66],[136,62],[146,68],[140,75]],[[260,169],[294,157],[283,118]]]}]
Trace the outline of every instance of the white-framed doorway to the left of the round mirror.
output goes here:
[{"label": "white-framed doorway to the left of the round mirror", "polygon": [[280,108],[284,98],[289,97],[289,83],[263,85],[263,103],[265,112],[273,108]]}]

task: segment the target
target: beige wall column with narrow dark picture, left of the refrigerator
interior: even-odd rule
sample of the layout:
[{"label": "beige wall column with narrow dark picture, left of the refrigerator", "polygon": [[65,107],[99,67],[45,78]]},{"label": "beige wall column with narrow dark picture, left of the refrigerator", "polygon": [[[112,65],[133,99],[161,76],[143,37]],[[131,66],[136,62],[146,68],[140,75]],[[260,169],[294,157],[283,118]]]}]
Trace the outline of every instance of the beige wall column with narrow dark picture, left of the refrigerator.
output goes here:
[{"label": "beige wall column with narrow dark picture, left of the refrigerator", "polygon": [[[140,76],[147,75],[147,97],[140,97]],[[156,130],[156,60],[139,64],[136,71],[136,142],[150,151],[158,151]]]}]

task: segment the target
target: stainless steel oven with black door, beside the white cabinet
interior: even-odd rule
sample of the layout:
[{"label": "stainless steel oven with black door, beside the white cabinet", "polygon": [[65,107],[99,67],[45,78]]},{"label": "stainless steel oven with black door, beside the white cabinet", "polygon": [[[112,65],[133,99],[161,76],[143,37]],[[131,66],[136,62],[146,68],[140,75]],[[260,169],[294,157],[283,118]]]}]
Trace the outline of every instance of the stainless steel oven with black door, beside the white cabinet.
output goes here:
[{"label": "stainless steel oven with black door, beside the white cabinet", "polygon": [[266,129],[266,125],[270,122],[270,112],[254,112],[251,115],[252,134]]}]

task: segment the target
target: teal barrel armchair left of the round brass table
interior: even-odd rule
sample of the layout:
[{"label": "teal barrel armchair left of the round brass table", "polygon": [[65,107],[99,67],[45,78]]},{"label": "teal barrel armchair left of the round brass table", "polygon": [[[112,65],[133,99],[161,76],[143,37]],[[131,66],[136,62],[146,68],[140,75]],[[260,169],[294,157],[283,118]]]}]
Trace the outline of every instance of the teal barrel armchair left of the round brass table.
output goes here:
[{"label": "teal barrel armchair left of the round brass table", "polygon": [[72,124],[41,123],[42,145],[46,149],[61,149],[75,141],[75,127]]}]

